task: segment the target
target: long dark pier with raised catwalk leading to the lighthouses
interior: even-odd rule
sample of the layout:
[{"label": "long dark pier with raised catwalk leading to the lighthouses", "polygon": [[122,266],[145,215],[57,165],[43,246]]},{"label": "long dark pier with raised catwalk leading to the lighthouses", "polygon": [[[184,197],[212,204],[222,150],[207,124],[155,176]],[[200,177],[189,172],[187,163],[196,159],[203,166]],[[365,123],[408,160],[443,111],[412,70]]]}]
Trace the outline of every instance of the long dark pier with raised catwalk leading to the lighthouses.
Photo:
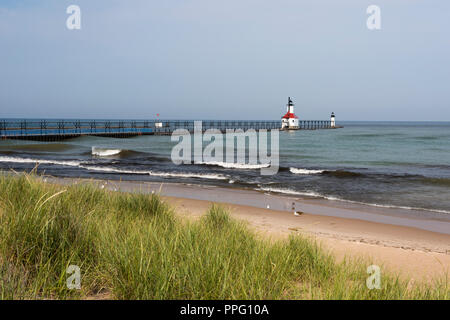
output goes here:
[{"label": "long dark pier with raised catwalk leading to the lighthouses", "polygon": [[[202,120],[203,130],[281,129],[279,120]],[[56,141],[80,136],[128,138],[139,135],[170,135],[176,129],[194,130],[193,120],[0,120],[1,139]],[[301,120],[299,130],[334,129],[331,121]]]}]

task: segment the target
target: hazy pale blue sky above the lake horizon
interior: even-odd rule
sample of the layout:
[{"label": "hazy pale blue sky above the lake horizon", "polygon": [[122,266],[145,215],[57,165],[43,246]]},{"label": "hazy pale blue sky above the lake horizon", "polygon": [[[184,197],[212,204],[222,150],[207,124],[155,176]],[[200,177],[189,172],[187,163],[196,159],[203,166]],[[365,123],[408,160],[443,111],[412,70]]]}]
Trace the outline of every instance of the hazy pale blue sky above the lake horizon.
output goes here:
[{"label": "hazy pale blue sky above the lake horizon", "polygon": [[292,96],[303,119],[450,121],[449,17],[446,0],[0,0],[0,117],[278,119]]}]

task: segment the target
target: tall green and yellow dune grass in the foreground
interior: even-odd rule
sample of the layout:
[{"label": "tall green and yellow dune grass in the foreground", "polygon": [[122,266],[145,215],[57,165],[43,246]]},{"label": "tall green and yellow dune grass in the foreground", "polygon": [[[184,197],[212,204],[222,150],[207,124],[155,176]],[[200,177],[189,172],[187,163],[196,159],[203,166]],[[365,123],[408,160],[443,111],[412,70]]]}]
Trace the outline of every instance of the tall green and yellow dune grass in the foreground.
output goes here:
[{"label": "tall green and yellow dune grass in the foreground", "polygon": [[1,299],[449,298],[447,279],[411,288],[385,272],[369,290],[366,268],[301,236],[262,239],[219,206],[192,221],[158,195],[0,176]]}]

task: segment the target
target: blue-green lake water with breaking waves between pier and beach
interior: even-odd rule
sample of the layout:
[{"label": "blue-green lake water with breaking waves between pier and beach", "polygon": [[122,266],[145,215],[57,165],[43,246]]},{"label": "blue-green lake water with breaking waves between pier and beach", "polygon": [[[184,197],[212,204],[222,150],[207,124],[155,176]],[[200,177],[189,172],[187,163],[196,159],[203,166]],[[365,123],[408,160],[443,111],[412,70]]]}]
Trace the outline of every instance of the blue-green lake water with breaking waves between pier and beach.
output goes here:
[{"label": "blue-green lake water with breaking waves between pier and beach", "polygon": [[450,214],[450,123],[340,122],[337,130],[280,132],[280,169],[172,163],[170,136],[0,141],[0,169],[61,177],[248,188],[299,197]]}]

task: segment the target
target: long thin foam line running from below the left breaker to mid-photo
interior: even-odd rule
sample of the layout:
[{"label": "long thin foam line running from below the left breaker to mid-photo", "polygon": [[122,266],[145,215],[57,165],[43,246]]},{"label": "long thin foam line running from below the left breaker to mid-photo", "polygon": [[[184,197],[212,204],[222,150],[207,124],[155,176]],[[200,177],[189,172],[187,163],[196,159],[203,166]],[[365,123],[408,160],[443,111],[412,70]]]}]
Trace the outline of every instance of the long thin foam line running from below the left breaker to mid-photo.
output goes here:
[{"label": "long thin foam line running from below the left breaker to mid-photo", "polygon": [[118,169],[114,167],[96,167],[96,166],[81,166],[83,169],[100,172],[122,173],[122,174],[141,174],[157,177],[169,178],[199,178],[199,179],[213,179],[213,180],[227,180],[228,177],[221,174],[199,174],[191,172],[156,172],[150,170],[127,170]]}]

